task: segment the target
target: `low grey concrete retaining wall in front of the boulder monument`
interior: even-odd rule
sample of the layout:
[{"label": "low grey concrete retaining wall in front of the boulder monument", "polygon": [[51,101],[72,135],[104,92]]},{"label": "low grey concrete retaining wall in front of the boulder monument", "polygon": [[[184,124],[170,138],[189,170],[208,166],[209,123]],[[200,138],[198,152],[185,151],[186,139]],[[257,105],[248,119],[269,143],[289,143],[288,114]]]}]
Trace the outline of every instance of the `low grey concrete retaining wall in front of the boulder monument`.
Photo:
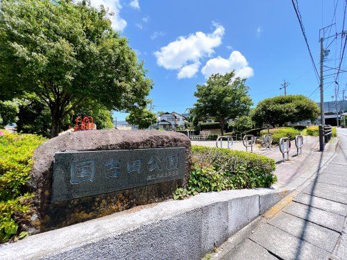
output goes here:
[{"label": "low grey concrete retaining wall in front of the boulder monument", "polygon": [[200,193],[0,246],[0,259],[201,259],[292,190]]}]

